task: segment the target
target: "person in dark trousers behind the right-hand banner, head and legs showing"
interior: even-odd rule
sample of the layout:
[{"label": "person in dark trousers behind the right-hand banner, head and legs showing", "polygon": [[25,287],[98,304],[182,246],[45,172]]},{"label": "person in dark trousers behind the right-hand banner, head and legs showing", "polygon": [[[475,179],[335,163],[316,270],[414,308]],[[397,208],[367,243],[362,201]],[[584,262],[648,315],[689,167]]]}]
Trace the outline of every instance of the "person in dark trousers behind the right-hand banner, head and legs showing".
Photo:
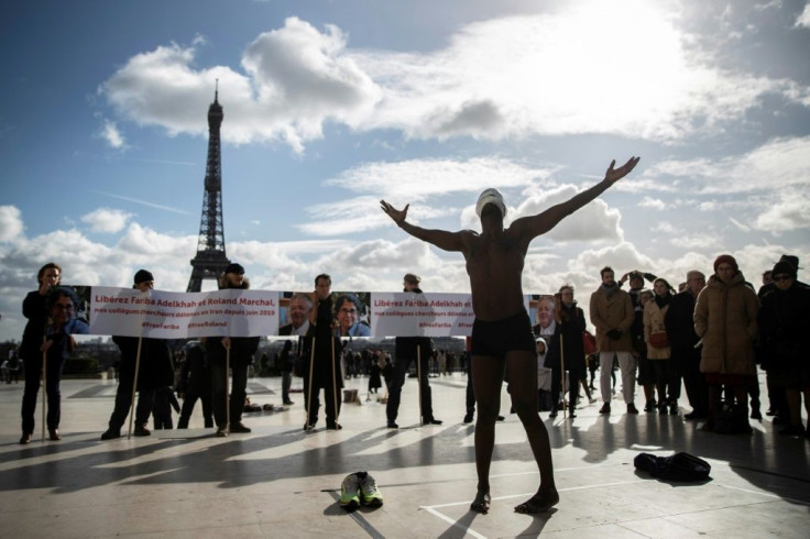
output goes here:
[{"label": "person in dark trousers behind the right-hand banner, head and legs showing", "polygon": [[[422,279],[413,273],[406,273],[403,277],[403,290],[413,294],[422,294],[419,283]],[[430,383],[428,381],[428,371],[430,365],[430,355],[433,354],[433,343],[428,337],[397,337],[394,341],[394,375],[388,385],[388,402],[385,405],[385,416],[388,420],[388,428],[396,429],[396,416],[399,413],[399,402],[402,399],[402,386],[405,385],[405,375],[408,372],[411,363],[420,358],[419,373],[419,403],[422,404],[422,424],[423,425],[441,425],[439,419],[434,417],[433,395],[430,392]]]}]

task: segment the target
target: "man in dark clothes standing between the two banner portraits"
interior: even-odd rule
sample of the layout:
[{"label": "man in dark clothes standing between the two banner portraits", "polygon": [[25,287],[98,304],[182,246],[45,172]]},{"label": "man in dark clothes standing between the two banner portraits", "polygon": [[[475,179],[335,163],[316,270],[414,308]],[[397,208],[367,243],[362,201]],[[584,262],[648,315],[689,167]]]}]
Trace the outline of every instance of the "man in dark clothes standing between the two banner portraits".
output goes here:
[{"label": "man in dark clothes standing between the two banner portraits", "polygon": [[[340,416],[339,391],[343,387],[343,376],[340,371],[340,340],[335,338],[332,329],[332,279],[327,274],[315,277],[315,296],[318,307],[315,312],[315,337],[304,338],[304,402],[307,411],[307,421],[304,430],[309,431],[318,421],[320,400],[318,394],[324,389],[326,406],[326,428],[340,430],[343,427],[338,422]],[[314,341],[314,344],[313,344]],[[314,350],[313,350],[314,345]]]}]

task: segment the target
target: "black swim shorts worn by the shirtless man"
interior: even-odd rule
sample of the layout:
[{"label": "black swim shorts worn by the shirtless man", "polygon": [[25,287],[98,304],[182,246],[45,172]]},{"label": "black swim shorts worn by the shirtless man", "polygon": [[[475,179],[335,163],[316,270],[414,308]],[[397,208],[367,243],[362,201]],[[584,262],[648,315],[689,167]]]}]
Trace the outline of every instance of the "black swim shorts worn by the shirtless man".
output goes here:
[{"label": "black swim shorts worn by the shirtless man", "polygon": [[532,321],[525,310],[493,322],[475,319],[471,341],[472,355],[503,358],[506,352],[525,350],[536,353],[537,350]]}]

